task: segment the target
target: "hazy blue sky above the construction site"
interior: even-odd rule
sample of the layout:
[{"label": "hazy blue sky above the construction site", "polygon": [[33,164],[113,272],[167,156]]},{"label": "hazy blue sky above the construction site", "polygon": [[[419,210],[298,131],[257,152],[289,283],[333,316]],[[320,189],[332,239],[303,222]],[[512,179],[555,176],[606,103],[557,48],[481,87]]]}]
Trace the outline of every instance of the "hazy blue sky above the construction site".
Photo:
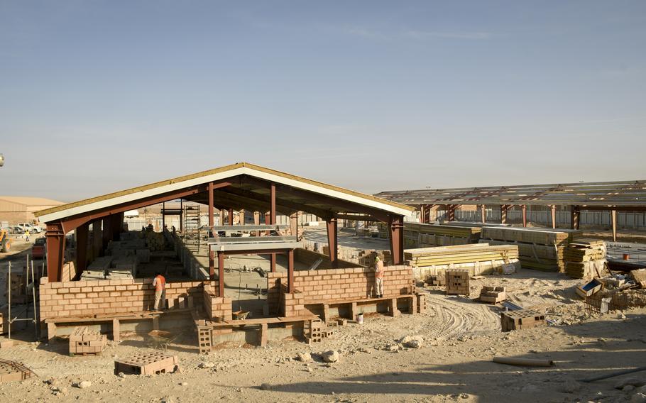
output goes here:
[{"label": "hazy blue sky above the construction site", "polygon": [[0,194],[644,180],[645,50],[642,0],[0,0]]}]

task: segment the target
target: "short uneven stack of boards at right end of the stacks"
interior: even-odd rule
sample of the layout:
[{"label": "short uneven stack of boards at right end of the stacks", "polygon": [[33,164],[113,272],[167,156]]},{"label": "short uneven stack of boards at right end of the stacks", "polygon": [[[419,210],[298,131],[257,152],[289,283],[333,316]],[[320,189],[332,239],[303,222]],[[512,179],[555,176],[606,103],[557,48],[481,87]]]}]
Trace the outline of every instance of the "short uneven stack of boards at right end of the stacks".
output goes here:
[{"label": "short uneven stack of boards at right end of the stacks", "polygon": [[601,277],[606,270],[606,242],[579,238],[565,250],[565,272],[569,277]]}]

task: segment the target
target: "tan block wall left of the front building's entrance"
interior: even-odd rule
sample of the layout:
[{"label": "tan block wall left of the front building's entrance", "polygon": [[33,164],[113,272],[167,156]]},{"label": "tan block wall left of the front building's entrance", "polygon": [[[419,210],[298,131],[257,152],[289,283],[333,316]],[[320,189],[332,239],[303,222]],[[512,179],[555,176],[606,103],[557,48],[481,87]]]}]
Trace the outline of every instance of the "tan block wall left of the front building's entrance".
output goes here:
[{"label": "tan block wall left of the front building's entrance", "polygon": [[[155,302],[152,283],[151,278],[48,282],[47,277],[43,277],[40,280],[40,318],[146,311]],[[168,282],[166,299],[191,296],[195,305],[202,305],[205,283],[217,289],[217,280]]]}]

